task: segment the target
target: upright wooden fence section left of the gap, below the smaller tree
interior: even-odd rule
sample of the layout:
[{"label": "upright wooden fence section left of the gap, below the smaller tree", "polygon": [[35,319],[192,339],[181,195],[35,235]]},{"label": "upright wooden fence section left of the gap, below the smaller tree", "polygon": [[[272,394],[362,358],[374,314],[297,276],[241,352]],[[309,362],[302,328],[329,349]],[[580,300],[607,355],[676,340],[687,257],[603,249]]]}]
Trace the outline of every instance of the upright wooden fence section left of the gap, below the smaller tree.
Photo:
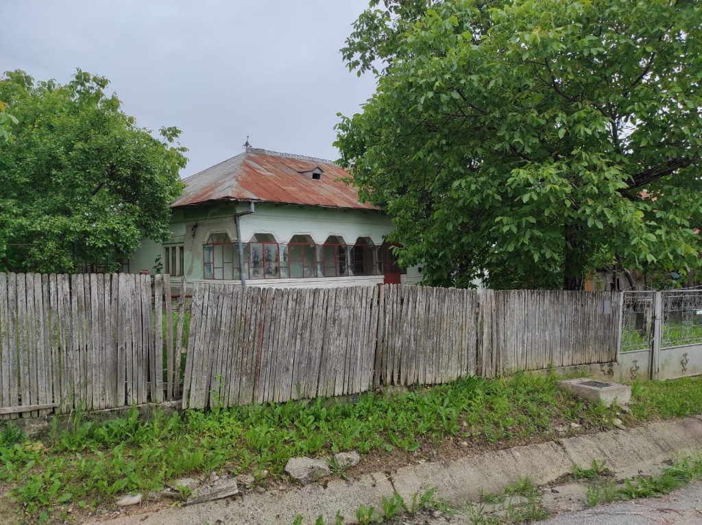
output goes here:
[{"label": "upright wooden fence section left of the gap, below the smaller tree", "polygon": [[170,290],[167,275],[152,286],[131,274],[0,274],[0,418],[179,399],[183,294],[174,341]]}]

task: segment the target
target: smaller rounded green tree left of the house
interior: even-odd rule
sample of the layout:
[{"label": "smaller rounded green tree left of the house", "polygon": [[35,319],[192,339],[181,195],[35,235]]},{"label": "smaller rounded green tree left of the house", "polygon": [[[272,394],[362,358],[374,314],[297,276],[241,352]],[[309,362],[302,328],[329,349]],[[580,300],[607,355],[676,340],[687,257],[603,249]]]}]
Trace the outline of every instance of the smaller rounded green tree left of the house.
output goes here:
[{"label": "smaller rounded green tree left of the house", "polygon": [[107,85],[80,69],[65,85],[21,71],[0,80],[18,121],[0,141],[0,271],[117,265],[143,237],[168,237],[187,162],[180,131],[154,138]]}]

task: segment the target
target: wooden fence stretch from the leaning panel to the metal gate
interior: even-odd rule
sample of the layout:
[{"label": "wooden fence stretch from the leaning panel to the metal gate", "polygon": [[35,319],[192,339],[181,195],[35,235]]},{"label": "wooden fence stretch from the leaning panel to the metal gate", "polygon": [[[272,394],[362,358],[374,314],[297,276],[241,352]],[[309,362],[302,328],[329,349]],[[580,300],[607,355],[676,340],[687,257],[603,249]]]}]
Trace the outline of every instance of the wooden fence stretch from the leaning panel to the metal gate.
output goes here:
[{"label": "wooden fence stretch from the leaning panel to the metal gate", "polygon": [[183,406],[614,361],[618,295],[196,284]]}]

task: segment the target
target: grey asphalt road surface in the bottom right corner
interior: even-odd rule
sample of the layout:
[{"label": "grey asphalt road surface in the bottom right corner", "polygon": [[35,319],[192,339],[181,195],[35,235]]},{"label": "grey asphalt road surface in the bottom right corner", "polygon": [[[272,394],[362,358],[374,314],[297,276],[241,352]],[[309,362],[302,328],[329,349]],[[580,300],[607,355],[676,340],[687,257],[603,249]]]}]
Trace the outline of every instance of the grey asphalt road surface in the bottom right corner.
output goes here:
[{"label": "grey asphalt road surface in the bottom right corner", "polygon": [[702,483],[664,498],[611,503],[541,521],[543,525],[702,525]]}]

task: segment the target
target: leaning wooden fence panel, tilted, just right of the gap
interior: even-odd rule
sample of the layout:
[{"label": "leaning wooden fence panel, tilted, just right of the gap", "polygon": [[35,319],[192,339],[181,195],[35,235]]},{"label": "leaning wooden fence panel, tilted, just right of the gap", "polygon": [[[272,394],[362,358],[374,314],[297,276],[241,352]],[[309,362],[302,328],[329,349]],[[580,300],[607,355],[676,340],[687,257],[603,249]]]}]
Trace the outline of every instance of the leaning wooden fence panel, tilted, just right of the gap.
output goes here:
[{"label": "leaning wooden fence panel, tilted, just right of the gap", "polygon": [[195,284],[183,404],[232,406],[368,390],[374,288]]}]

